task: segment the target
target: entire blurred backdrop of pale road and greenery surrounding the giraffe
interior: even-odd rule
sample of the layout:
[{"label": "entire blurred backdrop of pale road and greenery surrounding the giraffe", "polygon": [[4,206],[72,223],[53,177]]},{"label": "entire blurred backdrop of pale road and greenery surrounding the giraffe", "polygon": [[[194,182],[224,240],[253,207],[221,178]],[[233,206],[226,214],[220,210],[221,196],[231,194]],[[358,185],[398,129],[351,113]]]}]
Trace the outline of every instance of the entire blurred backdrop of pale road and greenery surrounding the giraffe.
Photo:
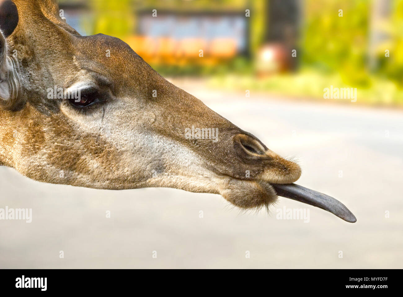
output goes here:
[{"label": "entire blurred backdrop of pale road and greenery surrounding the giraffe", "polygon": [[[33,209],[32,223],[0,221],[1,268],[403,268],[403,0],[60,8],[82,35],[123,39],[178,87],[297,159],[297,183],[339,199],[357,223],[315,207],[309,222],[280,219],[284,208],[307,209],[286,198],[270,214],[239,214],[219,195],[43,184],[0,167],[0,208]],[[357,101],[325,99],[331,86],[357,88]]]}]

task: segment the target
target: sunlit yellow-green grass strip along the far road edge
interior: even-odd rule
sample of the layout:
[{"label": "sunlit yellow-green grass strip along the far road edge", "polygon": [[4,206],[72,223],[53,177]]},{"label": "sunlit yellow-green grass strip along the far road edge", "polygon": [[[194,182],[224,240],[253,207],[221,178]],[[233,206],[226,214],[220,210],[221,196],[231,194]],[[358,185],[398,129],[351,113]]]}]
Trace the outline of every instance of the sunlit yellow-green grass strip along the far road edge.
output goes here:
[{"label": "sunlit yellow-green grass strip along the far road edge", "polygon": [[357,87],[357,104],[403,106],[403,90],[394,82],[375,76],[369,77],[368,88],[347,85],[339,74],[322,74],[303,70],[295,74],[274,74],[267,77],[229,74],[214,75],[208,80],[209,87],[228,90],[251,90],[276,95],[318,101],[351,102],[350,99],[324,99],[324,88]]}]

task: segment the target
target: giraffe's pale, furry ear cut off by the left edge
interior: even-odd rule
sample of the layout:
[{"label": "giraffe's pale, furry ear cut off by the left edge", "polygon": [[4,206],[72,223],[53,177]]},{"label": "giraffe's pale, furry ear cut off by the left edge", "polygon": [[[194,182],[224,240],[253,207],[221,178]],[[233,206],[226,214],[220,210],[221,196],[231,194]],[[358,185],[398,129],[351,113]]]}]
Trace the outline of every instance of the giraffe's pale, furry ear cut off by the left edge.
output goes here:
[{"label": "giraffe's pale, furry ear cut off by the left edge", "polygon": [[16,69],[7,53],[7,41],[0,31],[0,107],[3,109],[10,109],[15,104],[19,85]]}]

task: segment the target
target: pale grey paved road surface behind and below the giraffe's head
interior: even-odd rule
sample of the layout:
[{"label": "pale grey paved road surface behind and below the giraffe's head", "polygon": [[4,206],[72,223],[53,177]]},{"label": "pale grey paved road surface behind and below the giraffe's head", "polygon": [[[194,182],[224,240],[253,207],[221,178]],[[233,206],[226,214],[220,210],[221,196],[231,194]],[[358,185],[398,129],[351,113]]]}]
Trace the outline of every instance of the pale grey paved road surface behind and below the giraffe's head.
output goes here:
[{"label": "pale grey paved road surface behind and below the giraffe's head", "polygon": [[298,183],[341,200],[357,223],[314,207],[309,222],[277,219],[306,208],[286,198],[271,215],[240,214],[213,194],[50,185],[0,167],[0,208],[33,209],[32,223],[0,221],[0,268],[403,268],[402,111],[183,87],[296,157]]}]

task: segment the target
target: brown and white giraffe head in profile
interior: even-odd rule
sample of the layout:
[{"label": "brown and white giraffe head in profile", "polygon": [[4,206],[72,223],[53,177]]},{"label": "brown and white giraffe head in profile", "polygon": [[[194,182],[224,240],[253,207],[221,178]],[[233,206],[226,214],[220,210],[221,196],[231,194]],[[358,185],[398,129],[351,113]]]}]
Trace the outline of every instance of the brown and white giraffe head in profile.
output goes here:
[{"label": "brown and white giraffe head in profile", "polygon": [[120,39],[79,35],[52,0],[14,2],[17,27],[0,36],[4,165],[56,184],[216,193],[243,209],[270,206],[276,191],[312,205],[323,198],[281,186],[301,175],[295,162],[162,78]]}]

